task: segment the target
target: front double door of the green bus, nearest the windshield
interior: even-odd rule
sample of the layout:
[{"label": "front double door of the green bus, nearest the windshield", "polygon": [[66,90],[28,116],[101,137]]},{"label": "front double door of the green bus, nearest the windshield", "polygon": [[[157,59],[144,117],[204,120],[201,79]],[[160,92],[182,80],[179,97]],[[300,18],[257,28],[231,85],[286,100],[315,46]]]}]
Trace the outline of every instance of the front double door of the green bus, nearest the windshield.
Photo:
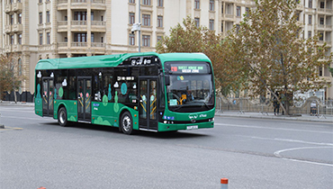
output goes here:
[{"label": "front double door of the green bus, nearest the windshield", "polygon": [[157,130],[157,78],[139,78],[139,129]]}]

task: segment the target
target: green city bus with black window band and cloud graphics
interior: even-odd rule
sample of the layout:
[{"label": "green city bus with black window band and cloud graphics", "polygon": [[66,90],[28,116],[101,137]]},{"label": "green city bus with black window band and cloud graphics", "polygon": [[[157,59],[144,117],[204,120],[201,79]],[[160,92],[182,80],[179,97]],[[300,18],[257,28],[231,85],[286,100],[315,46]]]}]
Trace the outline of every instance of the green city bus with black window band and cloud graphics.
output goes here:
[{"label": "green city bus with black window band and cloud graphics", "polygon": [[35,113],[134,130],[213,128],[215,86],[202,53],[156,52],[40,59]]}]

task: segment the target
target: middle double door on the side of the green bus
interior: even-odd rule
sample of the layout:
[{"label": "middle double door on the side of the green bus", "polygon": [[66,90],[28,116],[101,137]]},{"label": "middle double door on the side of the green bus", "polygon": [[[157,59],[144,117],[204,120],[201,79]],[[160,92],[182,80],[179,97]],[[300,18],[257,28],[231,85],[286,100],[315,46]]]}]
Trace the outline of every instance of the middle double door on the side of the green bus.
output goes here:
[{"label": "middle double door on the side of the green bus", "polygon": [[78,121],[91,121],[91,77],[77,78],[77,119]]}]

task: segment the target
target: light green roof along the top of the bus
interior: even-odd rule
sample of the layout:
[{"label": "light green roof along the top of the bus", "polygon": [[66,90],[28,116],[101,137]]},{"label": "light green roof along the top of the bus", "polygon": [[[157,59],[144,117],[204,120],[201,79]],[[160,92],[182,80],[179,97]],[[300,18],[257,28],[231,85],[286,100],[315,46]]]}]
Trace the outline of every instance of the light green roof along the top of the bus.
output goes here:
[{"label": "light green roof along the top of the bus", "polygon": [[142,56],[157,56],[162,64],[166,61],[206,61],[211,60],[203,53],[166,53],[157,54],[156,52],[115,54],[92,57],[77,57],[77,58],[53,58],[40,59],[35,69],[68,69],[68,68],[94,68],[94,67],[116,67],[127,58],[142,57]]}]

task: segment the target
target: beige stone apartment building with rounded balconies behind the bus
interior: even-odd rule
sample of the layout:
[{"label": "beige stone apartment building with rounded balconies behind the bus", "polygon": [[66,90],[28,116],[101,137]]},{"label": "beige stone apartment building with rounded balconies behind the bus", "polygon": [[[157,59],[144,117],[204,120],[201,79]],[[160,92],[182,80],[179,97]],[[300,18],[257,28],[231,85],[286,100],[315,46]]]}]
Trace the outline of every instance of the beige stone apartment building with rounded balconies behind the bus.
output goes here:
[{"label": "beige stone apartment building with rounded balconies behind the bus", "polygon": [[[304,38],[322,34],[332,51],[333,0],[300,0]],[[23,91],[33,92],[33,70],[40,58],[68,58],[154,51],[171,27],[190,15],[198,25],[224,36],[254,0],[0,0],[0,53],[16,53]],[[140,5],[139,5],[140,2]],[[140,11],[139,11],[140,7]],[[139,15],[140,14],[140,15]],[[140,20],[140,21],[139,21]],[[132,33],[133,23],[141,23]],[[332,84],[331,65],[319,68]],[[323,89],[333,98],[333,87]]]}]

